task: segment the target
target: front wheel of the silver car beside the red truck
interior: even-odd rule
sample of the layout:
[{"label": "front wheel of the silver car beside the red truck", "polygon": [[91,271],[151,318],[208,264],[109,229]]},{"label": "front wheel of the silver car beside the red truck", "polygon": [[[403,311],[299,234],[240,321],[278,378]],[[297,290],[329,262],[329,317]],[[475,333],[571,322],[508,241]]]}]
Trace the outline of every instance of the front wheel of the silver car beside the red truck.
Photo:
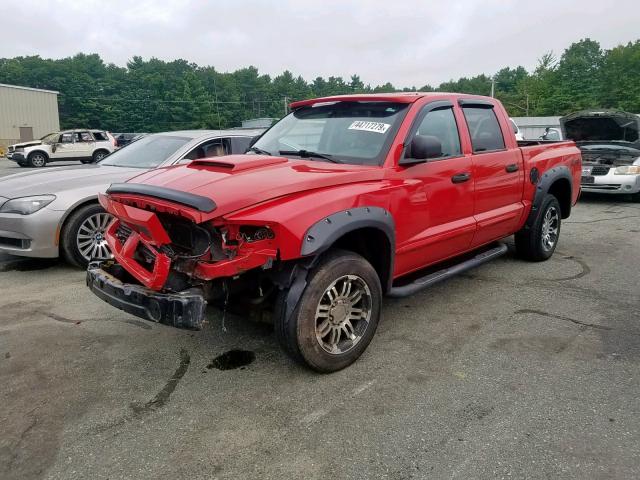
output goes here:
[{"label": "front wheel of the silver car beside the red truck", "polygon": [[95,203],[80,207],[69,215],[60,235],[65,259],[76,267],[86,268],[91,259],[111,258],[104,231],[112,218]]}]

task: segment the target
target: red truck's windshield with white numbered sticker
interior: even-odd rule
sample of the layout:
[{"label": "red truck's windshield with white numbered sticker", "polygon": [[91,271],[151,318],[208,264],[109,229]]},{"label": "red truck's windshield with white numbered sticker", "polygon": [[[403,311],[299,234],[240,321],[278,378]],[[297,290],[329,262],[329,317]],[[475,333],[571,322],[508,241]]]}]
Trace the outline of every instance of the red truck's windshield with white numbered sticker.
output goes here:
[{"label": "red truck's windshield with white numbered sticker", "polygon": [[381,165],[407,106],[331,102],[301,107],[267,131],[253,149],[292,158]]}]

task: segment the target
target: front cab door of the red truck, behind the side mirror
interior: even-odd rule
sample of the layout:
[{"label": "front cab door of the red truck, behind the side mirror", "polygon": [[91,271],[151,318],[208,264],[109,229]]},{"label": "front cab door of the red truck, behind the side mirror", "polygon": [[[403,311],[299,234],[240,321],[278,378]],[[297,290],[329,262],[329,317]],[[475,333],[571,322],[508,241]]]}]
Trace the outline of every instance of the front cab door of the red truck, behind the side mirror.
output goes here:
[{"label": "front cab door of the red truck, behind the side mirror", "polygon": [[[405,141],[399,168],[409,192],[397,209],[396,275],[455,256],[471,244],[476,229],[472,163],[462,151],[458,121],[451,102],[431,102],[418,114]],[[440,154],[411,164],[416,136],[439,145]]]}]

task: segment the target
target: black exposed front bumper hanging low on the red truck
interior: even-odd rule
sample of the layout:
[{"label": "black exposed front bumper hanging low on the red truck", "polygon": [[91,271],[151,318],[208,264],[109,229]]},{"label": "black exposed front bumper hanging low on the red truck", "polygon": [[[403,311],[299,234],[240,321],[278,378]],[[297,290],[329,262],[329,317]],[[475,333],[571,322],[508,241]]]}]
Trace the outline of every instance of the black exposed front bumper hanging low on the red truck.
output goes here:
[{"label": "black exposed front bumper hanging low on the red truck", "polygon": [[108,304],[137,317],[177,328],[202,328],[207,306],[202,292],[159,293],[124,283],[117,278],[122,273],[122,267],[113,262],[92,262],[87,269],[87,286]]}]

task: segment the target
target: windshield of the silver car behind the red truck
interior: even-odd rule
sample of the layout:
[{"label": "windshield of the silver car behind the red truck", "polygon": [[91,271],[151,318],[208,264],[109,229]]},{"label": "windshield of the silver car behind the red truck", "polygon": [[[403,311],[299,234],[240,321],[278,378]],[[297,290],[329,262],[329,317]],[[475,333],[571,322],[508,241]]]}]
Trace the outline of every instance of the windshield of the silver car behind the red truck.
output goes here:
[{"label": "windshield of the silver car behind the red truck", "polygon": [[100,162],[115,167],[155,168],[183,147],[190,138],[150,135],[116,150]]}]

